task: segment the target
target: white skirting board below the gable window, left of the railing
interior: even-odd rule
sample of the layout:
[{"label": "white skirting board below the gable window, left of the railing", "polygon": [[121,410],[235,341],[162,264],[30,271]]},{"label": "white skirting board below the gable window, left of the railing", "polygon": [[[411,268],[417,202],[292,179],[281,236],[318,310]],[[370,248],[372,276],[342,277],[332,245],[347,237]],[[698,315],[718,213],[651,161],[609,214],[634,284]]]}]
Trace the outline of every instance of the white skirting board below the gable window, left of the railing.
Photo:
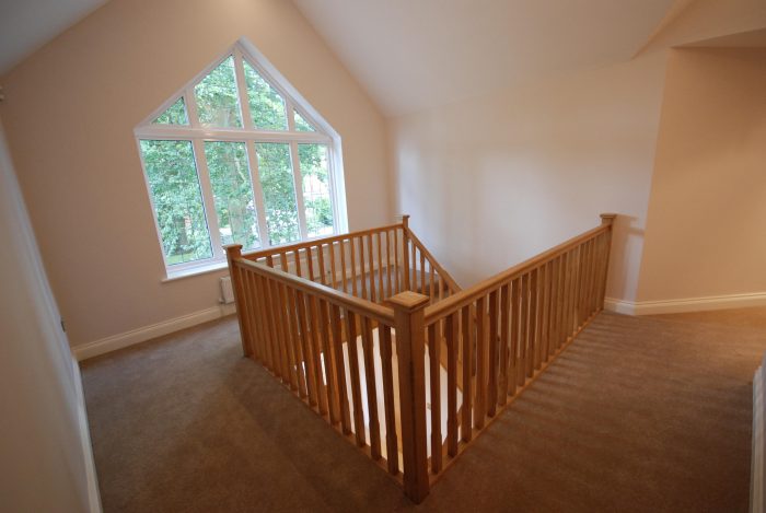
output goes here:
[{"label": "white skirting board below the gable window, left of the railing", "polygon": [[194,312],[192,314],[182,315],[181,317],[143,326],[141,328],[131,329],[121,334],[112,335],[111,337],[102,338],[101,340],[94,340],[92,342],[74,346],[72,348],[72,352],[74,353],[77,360],[81,362],[89,358],[116,351],[117,349],[123,349],[128,346],[132,346],[134,343],[146,342],[147,340],[172,334],[173,331],[178,331],[179,329],[190,328],[192,326],[196,326],[198,324],[216,320],[217,318],[225,317],[227,315],[234,314],[235,312],[236,307],[233,303],[222,304],[211,308],[200,310],[199,312]]}]

